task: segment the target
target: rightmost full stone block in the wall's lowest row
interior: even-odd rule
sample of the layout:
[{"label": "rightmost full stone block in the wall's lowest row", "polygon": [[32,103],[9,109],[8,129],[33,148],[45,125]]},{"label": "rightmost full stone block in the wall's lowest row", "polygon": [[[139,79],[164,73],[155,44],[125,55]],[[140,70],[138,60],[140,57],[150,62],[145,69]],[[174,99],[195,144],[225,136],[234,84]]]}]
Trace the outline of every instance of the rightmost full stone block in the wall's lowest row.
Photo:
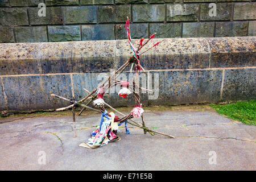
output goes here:
[{"label": "rightmost full stone block in the wall's lowest row", "polygon": [[248,22],[216,22],[215,36],[246,36]]}]

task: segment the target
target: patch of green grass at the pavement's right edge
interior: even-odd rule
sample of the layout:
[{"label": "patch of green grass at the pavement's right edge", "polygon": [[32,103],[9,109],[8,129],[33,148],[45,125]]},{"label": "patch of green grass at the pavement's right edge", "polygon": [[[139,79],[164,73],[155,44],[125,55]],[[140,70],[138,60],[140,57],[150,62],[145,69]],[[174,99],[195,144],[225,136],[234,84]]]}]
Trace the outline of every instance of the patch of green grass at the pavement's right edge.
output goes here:
[{"label": "patch of green grass at the pavement's right edge", "polygon": [[210,105],[217,113],[225,115],[235,121],[241,121],[246,125],[256,126],[256,100],[238,101],[232,104]]}]

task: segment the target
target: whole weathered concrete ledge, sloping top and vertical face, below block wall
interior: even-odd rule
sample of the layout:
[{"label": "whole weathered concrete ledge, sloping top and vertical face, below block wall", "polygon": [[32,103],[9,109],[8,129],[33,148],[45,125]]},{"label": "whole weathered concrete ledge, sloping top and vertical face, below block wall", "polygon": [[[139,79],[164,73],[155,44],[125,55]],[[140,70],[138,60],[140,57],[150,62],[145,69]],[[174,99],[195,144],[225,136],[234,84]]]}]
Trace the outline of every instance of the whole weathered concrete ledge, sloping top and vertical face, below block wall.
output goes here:
[{"label": "whole weathered concrete ledge, sloping top and vertical face, below block wall", "polygon": [[[141,56],[145,74],[159,75],[158,99],[142,93],[143,104],[256,98],[255,42],[255,36],[166,39]],[[0,110],[66,106],[49,94],[80,99],[86,95],[82,88],[94,89],[100,73],[118,68],[131,56],[127,40],[12,43],[0,44],[0,50]],[[117,93],[105,100],[114,106],[134,105],[133,98]]]}]

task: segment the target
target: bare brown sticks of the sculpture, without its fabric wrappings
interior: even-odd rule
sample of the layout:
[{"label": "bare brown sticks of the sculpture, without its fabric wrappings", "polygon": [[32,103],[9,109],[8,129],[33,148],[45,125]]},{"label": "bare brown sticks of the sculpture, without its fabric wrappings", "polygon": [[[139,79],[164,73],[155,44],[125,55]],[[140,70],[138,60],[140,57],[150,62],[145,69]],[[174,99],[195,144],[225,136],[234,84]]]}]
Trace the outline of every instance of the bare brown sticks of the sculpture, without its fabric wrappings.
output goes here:
[{"label": "bare brown sticks of the sculpture, without its fabric wrappings", "polygon": [[[128,17],[127,17],[128,18]],[[155,35],[156,33],[154,33],[153,35]],[[144,44],[140,44],[138,49],[137,49],[137,52],[139,52],[154,36],[150,36],[150,38],[148,38],[146,40],[146,42],[144,42]],[[154,46],[150,47],[149,49],[153,48]],[[146,51],[148,51],[149,49],[147,49]],[[146,52],[144,51],[144,52]],[[144,53],[142,52],[142,53]],[[140,53],[139,55],[142,55],[142,53]],[[93,107],[90,107],[88,106],[93,100],[95,100],[97,98],[97,90],[100,89],[100,88],[103,88],[104,90],[107,90],[109,88],[111,88],[112,86],[116,86],[118,84],[121,83],[121,80],[116,80],[116,78],[123,72],[125,71],[125,69],[127,67],[129,67],[129,65],[135,65],[135,72],[137,72],[137,74],[134,74],[135,76],[137,76],[137,80],[135,77],[133,77],[133,82],[132,83],[129,83],[129,86],[127,86],[127,89],[131,90],[131,92],[133,93],[133,96],[134,96],[134,100],[135,100],[135,105],[139,106],[141,105],[141,97],[139,95],[139,92],[137,91],[136,86],[138,86],[139,89],[141,90],[147,90],[148,92],[152,92],[152,90],[148,90],[146,88],[142,88],[141,86],[139,86],[139,79],[138,79],[138,68],[141,68],[141,70],[144,72],[145,69],[141,66],[141,64],[138,63],[137,59],[132,56],[130,57],[129,60],[127,60],[119,69],[117,69],[117,71],[115,71],[114,73],[112,73],[112,75],[110,75],[109,77],[107,77],[107,79],[105,81],[102,82],[102,84],[100,86],[98,86],[96,89],[94,89],[92,92],[89,92],[87,89],[84,88],[85,92],[88,93],[88,95],[84,98],[82,98],[81,100],[79,101],[76,101],[75,98],[72,98],[72,99],[68,99],[68,98],[64,98],[64,97],[61,97],[61,96],[57,96],[55,94],[51,94],[51,96],[53,97],[56,97],[56,98],[61,98],[65,101],[68,101],[71,103],[71,105],[67,106],[67,107],[61,107],[59,109],[56,109],[56,111],[63,111],[63,110],[67,110],[67,109],[71,109],[72,108],[72,113],[73,113],[73,124],[74,124],[74,134],[75,134],[75,137],[77,137],[77,134],[76,134],[76,115],[75,115],[75,107],[82,107],[80,113],[78,115],[81,115],[82,112],[85,110],[85,109],[90,109],[90,110],[94,110],[94,111],[97,111],[97,112],[100,112],[100,113],[103,113],[105,111],[105,106],[108,106],[110,109],[113,109],[115,112],[117,112],[118,114],[121,114],[122,117],[119,117],[117,119],[117,122],[123,122],[123,121],[126,121],[127,123],[129,123],[130,125],[133,125],[133,126],[136,126],[136,127],[139,127],[141,129],[144,130],[144,134],[146,134],[147,132],[151,135],[155,135],[155,134],[159,134],[159,135],[164,135],[166,137],[170,137],[170,138],[174,138],[173,136],[171,135],[167,135],[167,134],[164,134],[164,133],[160,133],[159,131],[154,131],[154,130],[151,130],[151,129],[148,129],[146,126],[145,126],[145,122],[144,122],[144,117],[143,117],[143,114],[141,115],[141,118],[142,118],[142,125],[135,122],[132,118],[133,118],[133,114],[129,113],[128,115],[125,115],[123,113],[121,113],[120,111],[114,109],[114,107],[110,106],[108,103],[106,103],[104,101],[104,105],[101,105],[99,108],[93,108]],[[132,85],[132,86],[131,86]],[[139,90],[138,89],[138,90]],[[128,121],[129,120],[129,121]]]}]

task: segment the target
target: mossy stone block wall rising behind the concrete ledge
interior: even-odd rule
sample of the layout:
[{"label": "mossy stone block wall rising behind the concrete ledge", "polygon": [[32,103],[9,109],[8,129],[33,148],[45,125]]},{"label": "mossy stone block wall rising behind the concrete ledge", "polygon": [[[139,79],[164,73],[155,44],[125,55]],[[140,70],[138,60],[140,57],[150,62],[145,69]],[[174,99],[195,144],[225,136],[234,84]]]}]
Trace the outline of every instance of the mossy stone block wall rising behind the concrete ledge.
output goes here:
[{"label": "mossy stone block wall rising behind the concrete ledge", "polygon": [[0,43],[125,39],[126,16],[132,38],[256,35],[255,0],[0,0]]}]

